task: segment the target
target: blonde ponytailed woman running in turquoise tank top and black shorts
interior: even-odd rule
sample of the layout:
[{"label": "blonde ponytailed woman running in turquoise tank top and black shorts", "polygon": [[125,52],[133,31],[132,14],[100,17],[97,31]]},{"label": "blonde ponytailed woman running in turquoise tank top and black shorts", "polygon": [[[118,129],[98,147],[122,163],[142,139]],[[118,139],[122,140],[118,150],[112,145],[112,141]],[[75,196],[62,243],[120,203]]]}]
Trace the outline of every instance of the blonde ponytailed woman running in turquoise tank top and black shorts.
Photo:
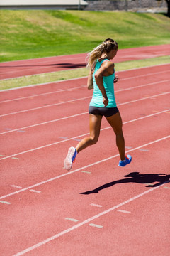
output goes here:
[{"label": "blonde ponytailed woman running in turquoise tank top and black shorts", "polygon": [[115,132],[116,145],[120,154],[118,166],[126,166],[132,161],[130,155],[125,155],[123,122],[115,102],[114,82],[118,81],[118,77],[115,77],[115,65],[111,60],[117,52],[118,43],[108,38],[89,53],[87,66],[90,67],[90,72],[87,87],[89,90],[94,89],[89,105],[90,135],[82,139],[75,148],[73,146],[69,148],[64,160],[64,169],[67,169],[67,171],[72,169],[72,163],[81,150],[96,144],[98,141],[103,116],[106,117]]}]

